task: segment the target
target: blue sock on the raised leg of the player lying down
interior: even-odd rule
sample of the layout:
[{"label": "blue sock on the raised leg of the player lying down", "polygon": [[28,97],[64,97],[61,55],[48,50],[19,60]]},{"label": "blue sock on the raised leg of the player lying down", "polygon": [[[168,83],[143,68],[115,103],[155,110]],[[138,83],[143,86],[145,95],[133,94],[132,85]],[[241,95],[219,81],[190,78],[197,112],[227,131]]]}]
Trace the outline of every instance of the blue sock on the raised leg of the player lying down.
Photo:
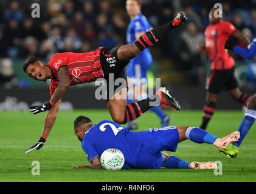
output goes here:
[{"label": "blue sock on the raised leg of the player lying down", "polygon": [[200,129],[198,127],[189,127],[185,133],[185,136],[187,139],[190,139],[191,141],[196,142],[198,144],[213,144],[213,142],[215,142],[215,140],[217,139],[211,133],[208,133],[205,130]]}]

